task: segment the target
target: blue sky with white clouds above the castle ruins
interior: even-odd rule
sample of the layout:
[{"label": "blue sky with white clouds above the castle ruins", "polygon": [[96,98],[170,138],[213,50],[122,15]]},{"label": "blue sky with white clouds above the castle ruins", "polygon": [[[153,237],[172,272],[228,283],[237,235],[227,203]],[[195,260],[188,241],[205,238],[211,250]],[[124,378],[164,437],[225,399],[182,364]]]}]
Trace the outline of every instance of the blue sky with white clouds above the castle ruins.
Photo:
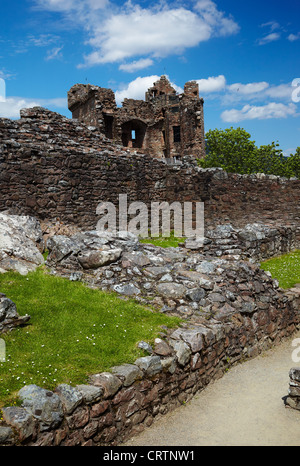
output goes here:
[{"label": "blue sky with white clouds above the castle ruins", "polygon": [[72,117],[76,83],[144,99],[166,75],[196,80],[205,131],[244,128],[300,146],[299,0],[0,0],[0,117],[42,106]]}]

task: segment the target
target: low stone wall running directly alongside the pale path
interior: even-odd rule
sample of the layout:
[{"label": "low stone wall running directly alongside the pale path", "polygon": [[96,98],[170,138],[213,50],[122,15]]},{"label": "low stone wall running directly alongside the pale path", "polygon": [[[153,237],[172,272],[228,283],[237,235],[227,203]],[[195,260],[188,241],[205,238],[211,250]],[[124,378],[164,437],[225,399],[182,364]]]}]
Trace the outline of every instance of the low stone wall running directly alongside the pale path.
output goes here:
[{"label": "low stone wall running directly alongside the pale path", "polygon": [[[255,356],[299,327],[299,299],[276,309],[182,328],[134,364],[94,374],[86,385],[54,392],[29,385],[22,406],[2,410],[0,445],[120,445],[247,356]],[[297,310],[296,310],[297,308]]]}]

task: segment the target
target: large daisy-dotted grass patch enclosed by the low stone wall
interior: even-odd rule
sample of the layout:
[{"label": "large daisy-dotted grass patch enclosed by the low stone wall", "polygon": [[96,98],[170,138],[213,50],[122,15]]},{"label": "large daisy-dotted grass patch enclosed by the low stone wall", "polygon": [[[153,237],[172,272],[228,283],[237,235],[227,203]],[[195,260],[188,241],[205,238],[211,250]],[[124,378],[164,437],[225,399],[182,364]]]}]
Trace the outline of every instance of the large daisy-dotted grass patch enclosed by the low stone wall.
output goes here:
[{"label": "large daisy-dotted grass patch enclosed by the low stone wall", "polygon": [[151,311],[136,301],[46,274],[0,275],[0,290],[17,305],[28,325],[1,335],[6,358],[0,364],[0,406],[16,400],[24,385],[54,389],[60,383],[86,383],[88,375],[133,362],[161,326],[180,320]]}]

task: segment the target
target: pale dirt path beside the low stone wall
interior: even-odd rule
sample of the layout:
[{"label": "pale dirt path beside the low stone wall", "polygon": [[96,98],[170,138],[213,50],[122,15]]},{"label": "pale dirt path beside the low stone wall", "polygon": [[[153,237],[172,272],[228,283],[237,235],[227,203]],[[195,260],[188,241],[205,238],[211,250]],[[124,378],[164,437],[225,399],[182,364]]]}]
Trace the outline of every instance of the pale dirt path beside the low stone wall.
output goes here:
[{"label": "pale dirt path beside the low stone wall", "polygon": [[300,411],[284,405],[294,338],[233,367],[128,446],[300,446]]}]

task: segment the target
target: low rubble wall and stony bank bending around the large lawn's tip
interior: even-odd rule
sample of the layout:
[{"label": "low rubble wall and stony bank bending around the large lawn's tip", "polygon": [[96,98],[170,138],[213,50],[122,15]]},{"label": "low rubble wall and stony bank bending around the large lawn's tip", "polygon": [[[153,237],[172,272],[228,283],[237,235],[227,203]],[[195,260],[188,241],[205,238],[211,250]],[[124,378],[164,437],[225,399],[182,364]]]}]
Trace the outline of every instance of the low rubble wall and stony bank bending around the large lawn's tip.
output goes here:
[{"label": "low rubble wall and stony bank bending around the large lawn's tip", "polygon": [[24,386],[21,406],[2,410],[0,445],[121,445],[300,327],[300,288],[282,290],[250,261],[159,248],[129,233],[55,235],[47,247],[52,272],[134,296],[182,325],[153,346],[140,342],[147,355],[86,384]]}]

